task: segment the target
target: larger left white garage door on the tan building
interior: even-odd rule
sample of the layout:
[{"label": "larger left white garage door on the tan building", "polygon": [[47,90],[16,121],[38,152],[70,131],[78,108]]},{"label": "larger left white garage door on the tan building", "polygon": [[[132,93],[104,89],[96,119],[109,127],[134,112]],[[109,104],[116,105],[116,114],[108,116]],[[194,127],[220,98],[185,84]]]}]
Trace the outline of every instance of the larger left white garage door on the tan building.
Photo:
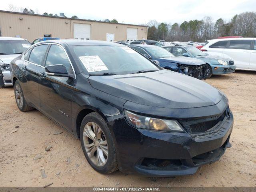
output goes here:
[{"label": "larger left white garage door on the tan building", "polygon": [[74,23],[74,38],[89,40],[91,38],[91,25]]}]

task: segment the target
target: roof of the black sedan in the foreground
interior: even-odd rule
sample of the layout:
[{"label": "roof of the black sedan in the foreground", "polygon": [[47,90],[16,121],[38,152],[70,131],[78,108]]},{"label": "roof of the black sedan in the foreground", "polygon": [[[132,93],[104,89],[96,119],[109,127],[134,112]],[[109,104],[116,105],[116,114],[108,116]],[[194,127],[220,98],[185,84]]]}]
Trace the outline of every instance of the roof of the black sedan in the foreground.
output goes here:
[{"label": "roof of the black sedan in the foreground", "polygon": [[46,40],[46,41],[41,41],[37,44],[44,44],[44,43],[58,43],[58,44],[66,44],[68,46],[77,46],[77,45],[125,46],[125,45],[114,43],[114,42],[98,41],[98,40],[82,40],[82,39]]}]

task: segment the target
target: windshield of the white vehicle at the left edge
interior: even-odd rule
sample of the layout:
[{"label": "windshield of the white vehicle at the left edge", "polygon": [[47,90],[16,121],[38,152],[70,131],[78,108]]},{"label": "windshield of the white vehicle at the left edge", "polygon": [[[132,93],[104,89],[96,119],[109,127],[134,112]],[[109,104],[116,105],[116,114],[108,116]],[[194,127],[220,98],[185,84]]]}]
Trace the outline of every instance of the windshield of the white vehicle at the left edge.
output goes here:
[{"label": "windshield of the white vehicle at the left edge", "polygon": [[22,54],[29,47],[30,43],[25,40],[0,40],[0,54]]}]

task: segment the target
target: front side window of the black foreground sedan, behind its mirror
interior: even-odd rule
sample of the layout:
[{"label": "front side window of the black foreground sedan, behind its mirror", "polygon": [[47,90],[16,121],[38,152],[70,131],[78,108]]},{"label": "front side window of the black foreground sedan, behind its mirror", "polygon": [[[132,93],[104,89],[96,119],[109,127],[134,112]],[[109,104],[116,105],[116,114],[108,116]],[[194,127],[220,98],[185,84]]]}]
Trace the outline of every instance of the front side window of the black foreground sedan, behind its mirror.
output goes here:
[{"label": "front side window of the black foreground sedan, behind its mirror", "polygon": [[68,73],[73,74],[72,66],[68,60],[66,52],[61,46],[52,44],[46,58],[45,66],[60,64],[66,67]]}]

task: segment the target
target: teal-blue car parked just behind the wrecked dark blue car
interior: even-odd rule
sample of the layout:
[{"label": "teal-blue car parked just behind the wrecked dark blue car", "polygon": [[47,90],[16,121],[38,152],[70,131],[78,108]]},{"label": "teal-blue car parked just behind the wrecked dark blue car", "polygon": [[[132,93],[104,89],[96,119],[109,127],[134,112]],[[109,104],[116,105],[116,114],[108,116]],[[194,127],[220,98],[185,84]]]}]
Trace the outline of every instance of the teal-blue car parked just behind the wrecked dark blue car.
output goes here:
[{"label": "teal-blue car parked just behind the wrecked dark blue car", "polygon": [[207,53],[205,54],[194,46],[163,46],[163,48],[178,57],[185,56],[189,58],[197,58],[206,62],[207,70],[210,71],[207,78],[210,78],[212,74],[221,75],[233,73],[236,69],[233,60],[220,58],[218,56],[209,56]]}]

